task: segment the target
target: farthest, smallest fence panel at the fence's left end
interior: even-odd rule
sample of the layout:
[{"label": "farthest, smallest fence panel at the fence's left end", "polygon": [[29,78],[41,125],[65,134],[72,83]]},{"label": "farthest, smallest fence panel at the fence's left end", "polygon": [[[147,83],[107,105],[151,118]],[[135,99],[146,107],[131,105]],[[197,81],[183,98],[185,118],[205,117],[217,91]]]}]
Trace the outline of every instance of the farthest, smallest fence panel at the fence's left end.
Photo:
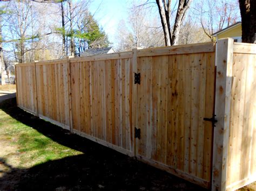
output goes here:
[{"label": "farthest, smallest fence panel at the fence's left end", "polygon": [[17,81],[17,106],[37,115],[35,63],[15,65]]}]

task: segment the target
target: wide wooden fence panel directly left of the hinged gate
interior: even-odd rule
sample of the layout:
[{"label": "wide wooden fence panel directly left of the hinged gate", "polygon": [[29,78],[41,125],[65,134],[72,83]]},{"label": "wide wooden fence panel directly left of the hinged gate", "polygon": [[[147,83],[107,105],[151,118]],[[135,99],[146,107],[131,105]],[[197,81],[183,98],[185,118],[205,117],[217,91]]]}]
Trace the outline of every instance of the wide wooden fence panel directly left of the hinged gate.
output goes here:
[{"label": "wide wooden fence panel directly left of the hinged gate", "polygon": [[131,52],[73,58],[73,132],[133,155]]}]

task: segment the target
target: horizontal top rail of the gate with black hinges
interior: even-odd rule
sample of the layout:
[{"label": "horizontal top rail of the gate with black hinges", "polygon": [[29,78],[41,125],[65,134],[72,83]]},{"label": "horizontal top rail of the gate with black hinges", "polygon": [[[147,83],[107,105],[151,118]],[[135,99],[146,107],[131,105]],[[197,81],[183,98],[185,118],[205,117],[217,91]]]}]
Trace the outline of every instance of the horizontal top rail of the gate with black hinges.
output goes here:
[{"label": "horizontal top rail of the gate with black hinges", "polygon": [[157,47],[138,49],[138,57],[141,56],[157,56],[172,54],[192,54],[201,52],[215,52],[214,43],[200,43],[180,46]]}]

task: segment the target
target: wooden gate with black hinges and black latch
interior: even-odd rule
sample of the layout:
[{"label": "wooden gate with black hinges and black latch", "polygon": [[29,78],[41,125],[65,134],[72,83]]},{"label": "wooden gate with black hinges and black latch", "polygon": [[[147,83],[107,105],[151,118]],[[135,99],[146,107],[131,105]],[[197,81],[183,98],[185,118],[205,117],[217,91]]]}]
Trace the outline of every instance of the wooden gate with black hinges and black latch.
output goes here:
[{"label": "wooden gate with black hinges and black latch", "polygon": [[136,155],[209,187],[213,128],[204,118],[214,112],[215,53],[177,54],[176,48],[173,55],[151,51],[152,56],[145,56],[143,51],[137,60]]}]

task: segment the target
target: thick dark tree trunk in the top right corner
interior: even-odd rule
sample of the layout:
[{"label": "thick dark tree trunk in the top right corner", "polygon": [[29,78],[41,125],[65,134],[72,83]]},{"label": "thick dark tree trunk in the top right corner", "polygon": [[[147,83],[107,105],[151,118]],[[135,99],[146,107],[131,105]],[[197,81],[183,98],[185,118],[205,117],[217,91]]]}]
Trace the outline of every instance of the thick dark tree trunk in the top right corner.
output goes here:
[{"label": "thick dark tree trunk in the top right corner", "polygon": [[256,1],[239,0],[242,18],[242,43],[255,43],[256,39]]}]

